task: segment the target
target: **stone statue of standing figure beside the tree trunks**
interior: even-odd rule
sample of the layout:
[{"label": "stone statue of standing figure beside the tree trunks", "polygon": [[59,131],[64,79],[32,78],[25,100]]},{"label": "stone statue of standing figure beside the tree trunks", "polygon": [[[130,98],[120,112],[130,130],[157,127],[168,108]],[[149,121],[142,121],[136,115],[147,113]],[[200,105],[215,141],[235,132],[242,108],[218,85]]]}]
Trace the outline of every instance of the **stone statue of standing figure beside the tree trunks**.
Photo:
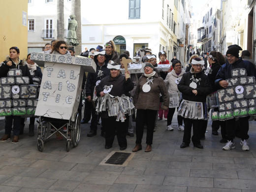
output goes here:
[{"label": "stone statue of standing figure beside the tree trunks", "polygon": [[68,45],[77,46],[79,44],[75,32],[77,29],[77,21],[75,20],[75,15],[72,14],[69,17],[71,20],[68,22],[66,42]]}]

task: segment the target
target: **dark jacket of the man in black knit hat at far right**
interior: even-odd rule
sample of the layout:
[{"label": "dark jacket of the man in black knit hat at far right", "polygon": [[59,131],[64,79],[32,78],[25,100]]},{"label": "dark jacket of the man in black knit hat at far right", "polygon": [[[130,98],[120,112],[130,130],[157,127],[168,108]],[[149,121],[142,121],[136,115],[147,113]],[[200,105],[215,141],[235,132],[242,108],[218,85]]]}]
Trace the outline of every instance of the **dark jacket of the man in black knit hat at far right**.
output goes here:
[{"label": "dark jacket of the man in black knit hat at far right", "polygon": [[[256,69],[254,65],[248,61],[243,61],[241,58],[237,60],[233,64],[225,63],[222,65],[222,67],[219,69],[215,84],[220,87],[219,81],[225,80],[225,79],[230,79],[231,77],[231,70],[235,68],[246,68],[247,71],[247,76],[255,76],[256,77]],[[223,89],[220,87],[220,89]]]}]

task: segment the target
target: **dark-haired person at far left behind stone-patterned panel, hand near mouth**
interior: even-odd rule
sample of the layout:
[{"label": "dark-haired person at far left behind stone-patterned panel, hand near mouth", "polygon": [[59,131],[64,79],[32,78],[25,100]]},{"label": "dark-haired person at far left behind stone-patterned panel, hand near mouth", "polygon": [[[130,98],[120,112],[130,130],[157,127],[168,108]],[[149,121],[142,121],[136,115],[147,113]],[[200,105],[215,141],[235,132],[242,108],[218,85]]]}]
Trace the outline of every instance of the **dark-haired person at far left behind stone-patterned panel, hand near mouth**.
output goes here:
[{"label": "dark-haired person at far left behind stone-patterned panel, hand near mouth", "polygon": [[[22,76],[26,76],[30,78],[30,84],[33,84],[32,75],[30,74],[30,70],[28,65],[23,63],[20,58],[20,50],[18,47],[11,47],[9,49],[9,57],[0,64],[0,78],[7,77],[7,73],[10,69],[21,69]],[[13,126],[12,126],[13,125]],[[21,116],[6,116],[5,117],[5,132],[0,141],[6,141],[11,137],[11,131],[13,130],[13,139],[12,143],[19,142],[19,134],[21,128]]]}]

